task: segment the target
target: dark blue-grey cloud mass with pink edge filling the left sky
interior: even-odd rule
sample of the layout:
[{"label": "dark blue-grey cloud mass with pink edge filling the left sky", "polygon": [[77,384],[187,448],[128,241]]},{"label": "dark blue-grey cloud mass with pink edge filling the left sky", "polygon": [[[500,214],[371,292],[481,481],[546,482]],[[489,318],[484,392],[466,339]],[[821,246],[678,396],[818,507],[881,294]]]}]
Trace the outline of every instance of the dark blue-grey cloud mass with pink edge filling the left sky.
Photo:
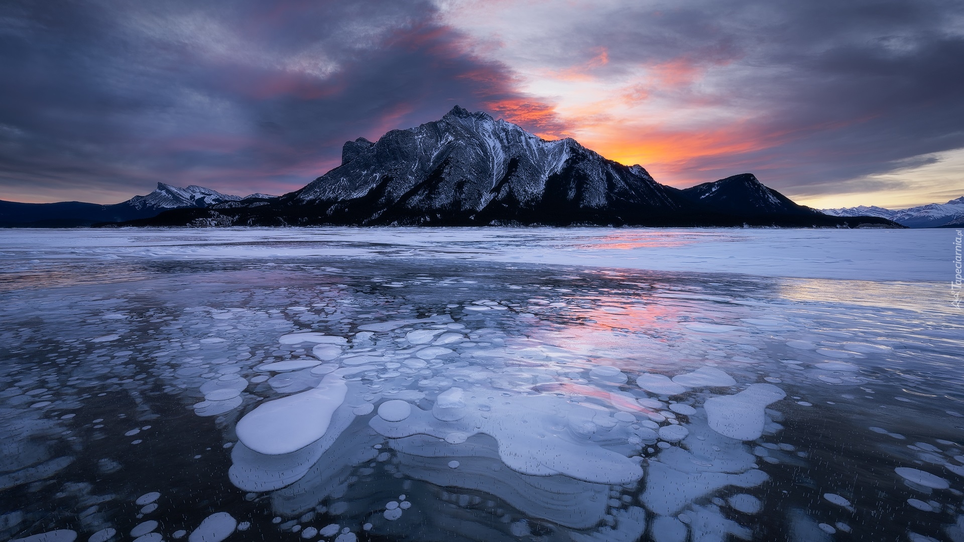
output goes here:
[{"label": "dark blue-grey cloud mass with pink edge filling the left sky", "polygon": [[425,3],[7,3],[0,198],[117,202],[156,181],[282,193],[341,144],[452,105],[551,125]]}]

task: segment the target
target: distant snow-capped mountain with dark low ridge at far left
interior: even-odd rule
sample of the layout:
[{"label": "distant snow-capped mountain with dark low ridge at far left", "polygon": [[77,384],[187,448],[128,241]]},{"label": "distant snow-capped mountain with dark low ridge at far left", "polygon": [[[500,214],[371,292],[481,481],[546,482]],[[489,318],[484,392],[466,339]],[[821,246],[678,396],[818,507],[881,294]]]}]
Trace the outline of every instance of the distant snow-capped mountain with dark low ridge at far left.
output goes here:
[{"label": "distant snow-capped mountain with dark low ridge at far left", "polygon": [[218,203],[270,199],[265,194],[246,198],[221,194],[201,186],[179,188],[163,182],[147,196],[134,196],[121,203],[101,205],[84,202],[18,203],[0,201],[0,227],[3,228],[76,228],[101,222],[126,222],[146,219],[175,208],[207,207]]}]

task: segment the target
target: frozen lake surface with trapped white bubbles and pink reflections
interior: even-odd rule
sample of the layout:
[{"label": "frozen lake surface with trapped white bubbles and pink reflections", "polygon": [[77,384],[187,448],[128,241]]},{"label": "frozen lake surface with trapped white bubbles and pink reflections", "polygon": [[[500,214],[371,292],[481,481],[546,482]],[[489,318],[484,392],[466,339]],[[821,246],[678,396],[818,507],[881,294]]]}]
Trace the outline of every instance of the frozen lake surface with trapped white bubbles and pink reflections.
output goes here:
[{"label": "frozen lake surface with trapped white bubbles and pink reflections", "polygon": [[951,230],[0,230],[0,539],[962,541],[951,258]]}]

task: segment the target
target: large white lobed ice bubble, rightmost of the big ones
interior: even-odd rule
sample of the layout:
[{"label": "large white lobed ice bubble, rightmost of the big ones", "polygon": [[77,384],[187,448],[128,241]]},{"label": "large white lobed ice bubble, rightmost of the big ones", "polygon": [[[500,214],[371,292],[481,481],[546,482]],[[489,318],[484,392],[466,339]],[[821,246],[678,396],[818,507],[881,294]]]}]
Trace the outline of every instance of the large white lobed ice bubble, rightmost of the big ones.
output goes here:
[{"label": "large white lobed ice bubble, rightmost of the big ones", "polygon": [[739,441],[755,441],[763,434],[766,406],[786,396],[772,384],[751,384],[735,395],[710,397],[704,408],[712,430]]}]

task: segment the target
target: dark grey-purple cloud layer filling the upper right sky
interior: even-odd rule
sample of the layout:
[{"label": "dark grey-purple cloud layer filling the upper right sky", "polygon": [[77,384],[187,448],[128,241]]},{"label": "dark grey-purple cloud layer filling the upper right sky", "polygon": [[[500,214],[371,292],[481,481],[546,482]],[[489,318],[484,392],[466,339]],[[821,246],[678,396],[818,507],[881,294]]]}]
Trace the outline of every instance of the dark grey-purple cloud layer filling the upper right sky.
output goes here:
[{"label": "dark grey-purple cloud layer filling the upper right sky", "polygon": [[640,63],[705,68],[669,97],[743,111],[751,121],[735,139],[773,146],[689,164],[708,177],[752,170],[796,194],[872,190],[843,181],[964,147],[961,2],[634,2],[570,24],[544,49],[560,66],[605,47],[612,76]]}]

